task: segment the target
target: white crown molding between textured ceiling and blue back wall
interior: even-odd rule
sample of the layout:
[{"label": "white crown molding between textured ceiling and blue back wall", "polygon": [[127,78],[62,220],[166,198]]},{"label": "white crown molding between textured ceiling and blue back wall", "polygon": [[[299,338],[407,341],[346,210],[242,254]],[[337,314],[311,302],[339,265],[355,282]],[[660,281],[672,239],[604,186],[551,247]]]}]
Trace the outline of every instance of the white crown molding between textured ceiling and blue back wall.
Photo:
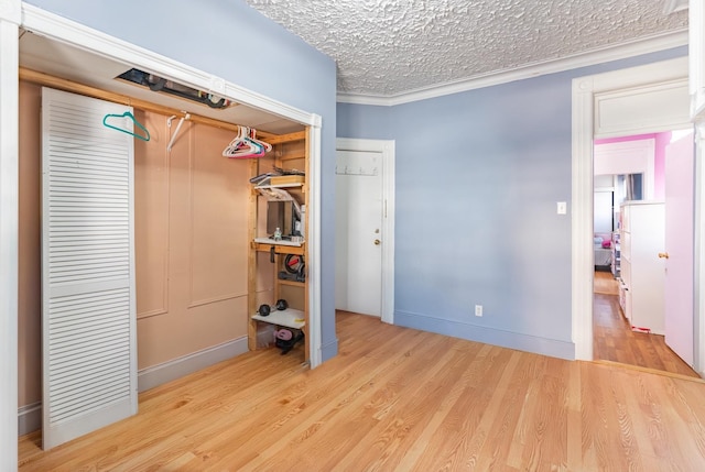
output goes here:
[{"label": "white crown molding between textured ceiling and blue back wall", "polygon": [[469,79],[424,87],[392,96],[338,92],[337,101],[339,103],[392,107],[395,105],[425,100],[427,98],[436,98],[445,95],[452,95],[484,87],[491,87],[500,84],[508,84],[516,80],[561,73],[579,67],[607,63],[610,61],[625,59],[642,54],[685,46],[687,45],[687,29],[682,29],[628,43],[622,43],[619,45],[593,50],[587,53],[575,54],[573,56],[563,57],[560,59],[544,61],[528,66],[503,70],[500,73],[492,73],[488,75],[476,76]]}]

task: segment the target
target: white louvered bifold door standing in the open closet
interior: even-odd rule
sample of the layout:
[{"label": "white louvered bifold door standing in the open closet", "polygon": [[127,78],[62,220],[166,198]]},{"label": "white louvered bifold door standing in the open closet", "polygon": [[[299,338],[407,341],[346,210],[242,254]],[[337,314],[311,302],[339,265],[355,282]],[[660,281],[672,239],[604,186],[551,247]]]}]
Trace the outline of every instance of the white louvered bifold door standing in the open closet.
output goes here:
[{"label": "white louvered bifold door standing in the open closet", "polygon": [[42,89],[44,449],[137,413],[134,138],[102,124],[126,111]]}]

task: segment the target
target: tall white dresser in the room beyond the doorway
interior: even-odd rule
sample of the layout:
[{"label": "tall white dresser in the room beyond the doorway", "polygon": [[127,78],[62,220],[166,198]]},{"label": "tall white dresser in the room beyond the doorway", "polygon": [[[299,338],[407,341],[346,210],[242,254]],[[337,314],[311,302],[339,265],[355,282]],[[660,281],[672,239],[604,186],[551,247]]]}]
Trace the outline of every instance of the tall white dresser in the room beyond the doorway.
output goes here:
[{"label": "tall white dresser in the room beyond the doorway", "polygon": [[626,201],[621,205],[621,284],[619,301],[637,330],[664,333],[665,264],[664,205]]}]

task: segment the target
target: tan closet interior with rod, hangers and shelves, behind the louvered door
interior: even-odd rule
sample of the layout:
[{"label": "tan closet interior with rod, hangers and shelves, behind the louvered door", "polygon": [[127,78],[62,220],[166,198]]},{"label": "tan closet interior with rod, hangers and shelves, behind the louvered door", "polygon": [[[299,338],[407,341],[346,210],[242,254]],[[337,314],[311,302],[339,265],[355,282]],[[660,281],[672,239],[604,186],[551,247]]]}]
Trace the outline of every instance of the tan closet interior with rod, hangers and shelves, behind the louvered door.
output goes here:
[{"label": "tan closet interior with rod, hangers and shelves, behind the louvered door", "polygon": [[[126,80],[130,65],[31,32],[22,32],[20,66],[20,406],[42,400],[48,369],[41,339],[43,87],[123,105],[134,121],[140,391],[212,351],[269,347],[272,355],[307,361],[306,128],[148,73],[147,85]],[[120,134],[124,117],[113,118],[102,125]]]}]

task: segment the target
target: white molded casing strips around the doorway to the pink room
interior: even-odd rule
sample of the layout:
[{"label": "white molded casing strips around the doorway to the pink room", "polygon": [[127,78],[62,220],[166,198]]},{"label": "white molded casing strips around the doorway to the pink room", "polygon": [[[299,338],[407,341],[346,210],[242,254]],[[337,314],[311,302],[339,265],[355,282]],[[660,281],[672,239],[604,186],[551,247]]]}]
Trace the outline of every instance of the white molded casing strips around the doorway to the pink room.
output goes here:
[{"label": "white molded casing strips around the doorway to the pink room", "polygon": [[[575,359],[593,360],[593,149],[595,138],[641,134],[657,131],[675,130],[692,127],[687,117],[670,117],[662,120],[644,120],[629,129],[603,128],[598,100],[600,95],[638,97],[644,88],[658,86],[687,86],[687,57],[631,67],[611,73],[598,74],[573,79],[573,158],[572,158],[572,327],[575,344]],[[688,110],[690,112],[690,110]],[[696,195],[703,185],[696,177]],[[699,226],[699,224],[698,224]],[[696,227],[696,232],[698,228]],[[699,241],[695,241],[695,253],[698,254]],[[705,260],[696,257],[696,267],[703,266]],[[696,287],[697,290],[697,287]],[[697,296],[697,295],[696,295]],[[696,308],[695,318],[699,326],[705,321],[705,311]],[[696,322],[695,326],[698,326]],[[703,351],[696,336],[695,359]],[[703,365],[696,370],[703,371]]]}]

